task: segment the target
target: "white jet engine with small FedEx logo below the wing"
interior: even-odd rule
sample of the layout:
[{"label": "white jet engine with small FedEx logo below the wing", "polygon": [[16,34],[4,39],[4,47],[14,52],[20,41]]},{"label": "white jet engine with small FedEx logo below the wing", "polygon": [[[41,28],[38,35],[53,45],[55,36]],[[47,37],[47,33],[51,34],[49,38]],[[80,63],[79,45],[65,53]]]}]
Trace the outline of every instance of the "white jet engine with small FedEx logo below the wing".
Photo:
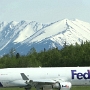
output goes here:
[{"label": "white jet engine with small FedEx logo below the wing", "polygon": [[59,90],[70,90],[71,86],[72,85],[70,82],[56,82],[55,84],[52,85],[52,88]]}]

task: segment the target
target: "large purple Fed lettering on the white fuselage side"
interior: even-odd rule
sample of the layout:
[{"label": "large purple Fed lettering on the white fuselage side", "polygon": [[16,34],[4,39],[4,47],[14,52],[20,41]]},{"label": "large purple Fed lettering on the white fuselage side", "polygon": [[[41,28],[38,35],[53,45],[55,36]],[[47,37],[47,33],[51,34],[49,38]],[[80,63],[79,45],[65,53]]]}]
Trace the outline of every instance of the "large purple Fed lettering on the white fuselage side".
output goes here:
[{"label": "large purple Fed lettering on the white fuselage side", "polygon": [[90,79],[90,70],[87,70],[85,73],[77,72],[77,70],[71,70],[72,79],[75,77],[79,80],[81,79]]}]

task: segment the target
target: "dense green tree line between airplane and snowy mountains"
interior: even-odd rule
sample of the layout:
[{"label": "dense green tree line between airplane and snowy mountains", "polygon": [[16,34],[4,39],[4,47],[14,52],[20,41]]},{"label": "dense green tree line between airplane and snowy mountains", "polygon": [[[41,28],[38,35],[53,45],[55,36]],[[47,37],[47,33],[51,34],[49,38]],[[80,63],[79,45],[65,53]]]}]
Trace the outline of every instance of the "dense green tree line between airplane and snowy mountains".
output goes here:
[{"label": "dense green tree line between airplane and snowy mountains", "polygon": [[16,67],[74,67],[90,66],[90,42],[81,45],[64,45],[62,49],[52,48],[36,52],[31,48],[26,55],[20,55],[14,48],[0,58],[0,68]]}]

